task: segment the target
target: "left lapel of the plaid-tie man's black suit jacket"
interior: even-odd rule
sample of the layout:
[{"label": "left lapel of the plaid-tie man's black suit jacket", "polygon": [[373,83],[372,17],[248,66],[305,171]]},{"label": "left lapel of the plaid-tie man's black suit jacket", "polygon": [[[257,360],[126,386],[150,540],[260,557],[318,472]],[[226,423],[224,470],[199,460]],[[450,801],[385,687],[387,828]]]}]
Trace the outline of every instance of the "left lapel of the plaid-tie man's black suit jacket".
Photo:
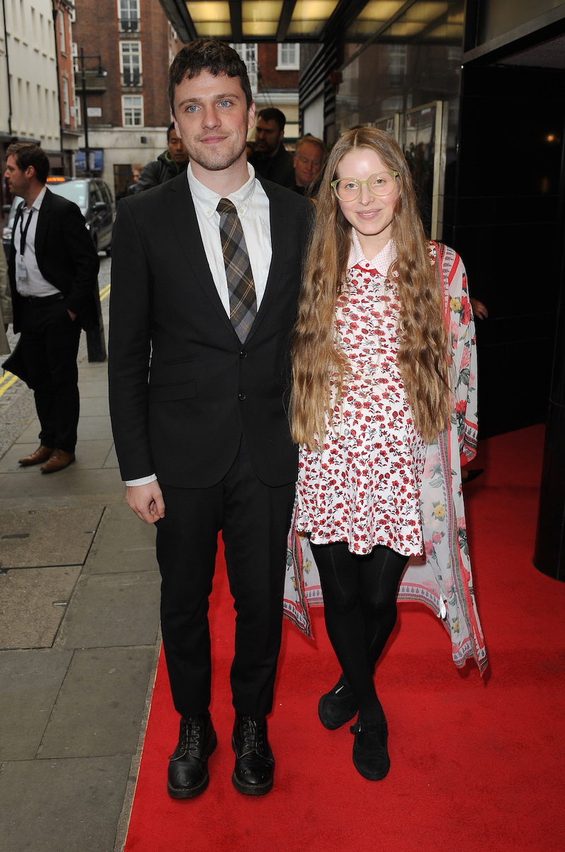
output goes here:
[{"label": "left lapel of the plaid-tie man's black suit jacket", "polygon": [[185,173],[170,181],[168,206],[173,218],[178,245],[180,245],[185,256],[189,272],[208,296],[222,323],[235,335],[236,332],[231,325],[230,318],[225,313],[225,308],[210,272],[208,258],[200,235],[200,227],[198,227],[197,212],[194,209],[194,201]]}]

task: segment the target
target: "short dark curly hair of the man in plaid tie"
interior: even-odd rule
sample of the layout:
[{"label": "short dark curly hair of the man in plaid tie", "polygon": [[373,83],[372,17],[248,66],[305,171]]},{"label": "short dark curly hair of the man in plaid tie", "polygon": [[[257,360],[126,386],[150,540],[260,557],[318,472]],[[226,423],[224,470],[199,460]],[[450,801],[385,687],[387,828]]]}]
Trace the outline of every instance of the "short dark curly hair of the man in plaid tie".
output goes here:
[{"label": "short dark curly hair of the man in plaid tie", "polygon": [[197,38],[186,44],[174,57],[168,69],[168,101],[174,115],[174,89],[185,78],[191,80],[203,71],[208,71],[218,77],[226,74],[228,77],[238,77],[242,84],[248,108],[253,101],[247,68],[236,50],[217,38]]}]

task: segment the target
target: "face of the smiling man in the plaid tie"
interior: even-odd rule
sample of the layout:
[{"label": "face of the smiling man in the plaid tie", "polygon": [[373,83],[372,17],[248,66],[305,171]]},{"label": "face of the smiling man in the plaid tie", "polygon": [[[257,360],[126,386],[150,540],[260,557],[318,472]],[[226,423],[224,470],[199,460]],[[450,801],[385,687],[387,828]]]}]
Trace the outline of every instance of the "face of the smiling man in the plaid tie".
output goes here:
[{"label": "face of the smiling man in the plaid tie", "polygon": [[208,71],[185,78],[174,90],[174,125],[191,159],[208,171],[229,169],[243,158],[255,118],[237,77]]}]

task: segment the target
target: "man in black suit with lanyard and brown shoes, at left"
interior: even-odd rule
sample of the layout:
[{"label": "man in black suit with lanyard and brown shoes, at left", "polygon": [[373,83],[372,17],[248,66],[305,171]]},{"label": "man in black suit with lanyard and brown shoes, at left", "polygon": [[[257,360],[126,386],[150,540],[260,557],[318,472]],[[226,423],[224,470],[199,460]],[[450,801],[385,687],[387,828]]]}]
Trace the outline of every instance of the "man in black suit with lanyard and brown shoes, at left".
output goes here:
[{"label": "man in black suit with lanyard and brown shoes, at left", "polygon": [[26,382],[35,391],[40,445],[20,458],[55,473],[75,460],[78,424],[77,351],[81,328],[98,324],[95,288],[100,266],[77,204],[45,186],[49,159],[42,148],[17,142],[8,148],[4,177],[24,199],[12,233],[9,279],[14,331]]}]

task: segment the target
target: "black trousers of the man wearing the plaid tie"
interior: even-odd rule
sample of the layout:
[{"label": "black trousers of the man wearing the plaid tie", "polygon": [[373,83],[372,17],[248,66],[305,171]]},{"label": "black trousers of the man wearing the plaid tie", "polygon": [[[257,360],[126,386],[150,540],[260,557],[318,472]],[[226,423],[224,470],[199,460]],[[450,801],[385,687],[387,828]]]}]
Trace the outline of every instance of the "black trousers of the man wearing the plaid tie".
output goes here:
[{"label": "black trousers of the man wearing the plaid tie", "polygon": [[[195,447],[194,452],[198,452]],[[174,706],[197,716],[210,703],[208,596],[222,530],[236,642],[231,665],[235,710],[266,716],[281,645],[287,535],[294,482],[271,487],[254,473],[244,441],[224,479],[210,488],[163,486],[157,521],[163,646]]]}]

